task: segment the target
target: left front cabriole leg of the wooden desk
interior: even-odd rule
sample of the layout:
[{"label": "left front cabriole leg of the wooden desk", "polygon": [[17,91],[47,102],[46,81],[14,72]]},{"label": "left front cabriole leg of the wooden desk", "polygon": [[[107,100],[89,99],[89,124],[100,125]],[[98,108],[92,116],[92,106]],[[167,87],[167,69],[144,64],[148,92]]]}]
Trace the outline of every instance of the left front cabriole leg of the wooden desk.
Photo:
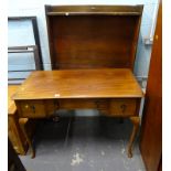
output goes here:
[{"label": "left front cabriole leg of the wooden desk", "polygon": [[29,121],[28,118],[20,118],[19,119],[21,130],[22,130],[23,135],[25,136],[25,139],[26,139],[26,141],[29,143],[29,147],[31,148],[31,151],[32,151],[31,158],[33,159],[33,158],[35,158],[35,150],[34,150],[32,141],[31,141],[31,139],[30,139],[30,137],[29,137],[29,135],[26,132],[26,124],[28,124],[28,121]]}]

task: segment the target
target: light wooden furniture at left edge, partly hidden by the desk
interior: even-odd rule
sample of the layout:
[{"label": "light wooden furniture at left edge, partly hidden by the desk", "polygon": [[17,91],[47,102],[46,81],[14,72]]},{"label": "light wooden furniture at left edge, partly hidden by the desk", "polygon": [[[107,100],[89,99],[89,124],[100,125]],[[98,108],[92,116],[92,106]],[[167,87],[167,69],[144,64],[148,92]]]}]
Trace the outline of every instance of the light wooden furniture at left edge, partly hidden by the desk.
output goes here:
[{"label": "light wooden furniture at left edge, partly hidden by the desk", "polygon": [[[21,118],[19,124],[17,106],[14,104],[14,100],[11,98],[11,96],[17,92],[19,87],[20,85],[8,86],[8,136],[15,152],[25,154],[28,150],[28,139],[29,141],[31,141],[33,137],[35,121],[28,119],[28,121],[25,122],[25,120]],[[31,127],[28,126],[31,124]],[[23,131],[23,129],[21,128],[25,128],[25,130]]]}]

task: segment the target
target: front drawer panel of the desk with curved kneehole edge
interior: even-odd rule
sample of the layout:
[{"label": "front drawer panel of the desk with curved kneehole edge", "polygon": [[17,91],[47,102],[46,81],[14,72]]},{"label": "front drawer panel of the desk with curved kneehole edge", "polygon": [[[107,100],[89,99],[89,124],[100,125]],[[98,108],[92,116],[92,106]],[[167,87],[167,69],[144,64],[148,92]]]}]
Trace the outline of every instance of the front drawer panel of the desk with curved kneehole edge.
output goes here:
[{"label": "front drawer panel of the desk with curved kneehole edge", "polygon": [[23,118],[46,118],[58,109],[97,109],[107,116],[138,116],[140,98],[77,98],[77,99],[32,99],[17,100],[19,116]]}]

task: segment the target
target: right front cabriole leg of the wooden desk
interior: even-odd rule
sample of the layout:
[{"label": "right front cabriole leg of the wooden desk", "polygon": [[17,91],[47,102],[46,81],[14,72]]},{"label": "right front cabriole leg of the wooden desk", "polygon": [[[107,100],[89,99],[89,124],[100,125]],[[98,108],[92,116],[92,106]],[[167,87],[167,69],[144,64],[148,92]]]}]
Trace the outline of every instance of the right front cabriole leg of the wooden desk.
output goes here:
[{"label": "right front cabriole leg of the wooden desk", "polygon": [[133,141],[135,141],[135,138],[136,138],[136,135],[139,128],[140,118],[136,116],[136,117],[130,117],[129,119],[133,124],[133,129],[130,135],[129,143],[128,143],[128,158],[132,158],[132,145],[133,145]]}]

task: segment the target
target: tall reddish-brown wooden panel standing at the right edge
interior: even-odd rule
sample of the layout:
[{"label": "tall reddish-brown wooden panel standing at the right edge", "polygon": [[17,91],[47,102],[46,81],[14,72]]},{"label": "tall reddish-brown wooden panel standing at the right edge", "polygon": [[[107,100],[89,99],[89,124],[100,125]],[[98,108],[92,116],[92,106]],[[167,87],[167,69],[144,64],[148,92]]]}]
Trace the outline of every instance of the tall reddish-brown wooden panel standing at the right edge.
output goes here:
[{"label": "tall reddish-brown wooden panel standing at the right edge", "polygon": [[[142,117],[140,150],[147,171],[158,171],[162,156],[162,6],[160,2]],[[161,170],[161,168],[159,169]]]}]

